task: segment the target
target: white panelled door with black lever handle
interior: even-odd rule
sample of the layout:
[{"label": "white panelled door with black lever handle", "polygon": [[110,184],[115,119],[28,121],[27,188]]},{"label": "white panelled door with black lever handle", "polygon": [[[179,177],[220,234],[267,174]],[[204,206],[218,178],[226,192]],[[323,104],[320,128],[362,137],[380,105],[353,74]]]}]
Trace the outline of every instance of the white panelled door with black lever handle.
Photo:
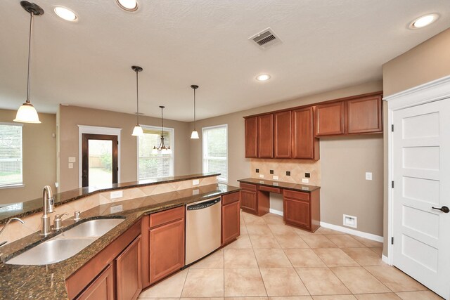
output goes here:
[{"label": "white panelled door with black lever handle", "polygon": [[450,99],[394,111],[393,121],[393,263],[449,299]]}]

